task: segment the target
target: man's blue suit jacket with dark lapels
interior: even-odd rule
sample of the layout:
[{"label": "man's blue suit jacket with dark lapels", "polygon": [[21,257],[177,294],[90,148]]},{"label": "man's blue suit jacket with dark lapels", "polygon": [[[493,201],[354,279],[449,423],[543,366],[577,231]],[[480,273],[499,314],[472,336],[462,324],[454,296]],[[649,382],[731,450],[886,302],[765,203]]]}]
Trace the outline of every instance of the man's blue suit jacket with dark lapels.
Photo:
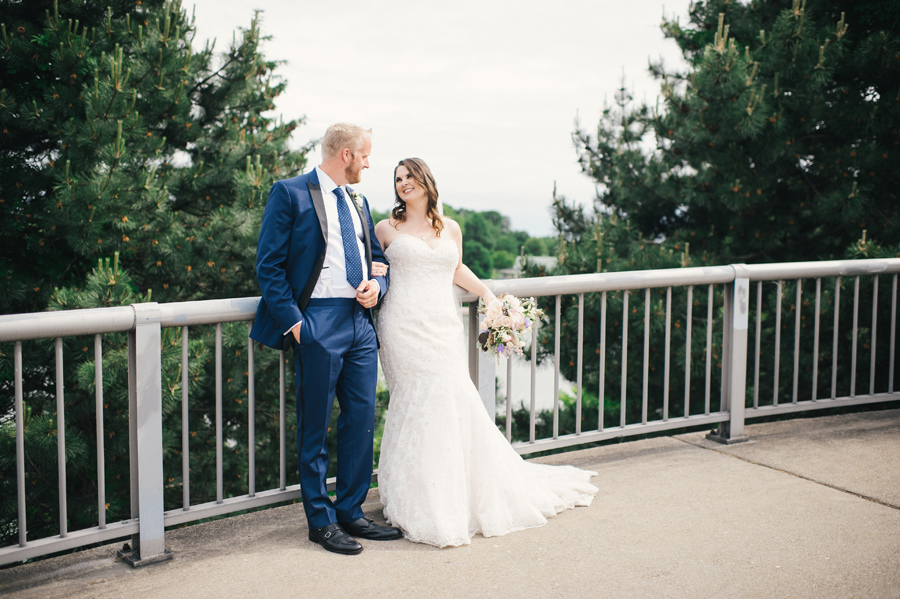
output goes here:
[{"label": "man's blue suit jacket with dark lapels", "polygon": [[[366,264],[371,272],[372,260],[387,264],[387,259],[375,238],[375,225],[365,198],[362,210],[357,207],[357,211],[363,223]],[[314,285],[319,278],[327,238],[325,200],[316,171],[276,181],[269,190],[256,248],[256,277],[262,299],[250,330],[251,339],[274,349],[289,345],[292,337],[286,338],[285,333],[303,320],[306,306],[301,296],[307,283]],[[388,281],[386,276],[376,280],[380,300],[387,292]],[[374,323],[371,309],[369,318]]]}]

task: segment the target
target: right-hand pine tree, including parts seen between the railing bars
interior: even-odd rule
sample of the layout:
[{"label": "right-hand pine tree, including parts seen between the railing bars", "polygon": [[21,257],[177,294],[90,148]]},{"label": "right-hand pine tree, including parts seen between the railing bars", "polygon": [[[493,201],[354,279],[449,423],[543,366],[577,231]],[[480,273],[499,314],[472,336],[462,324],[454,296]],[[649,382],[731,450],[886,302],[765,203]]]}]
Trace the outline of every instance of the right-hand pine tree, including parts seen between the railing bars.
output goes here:
[{"label": "right-hand pine tree, including parts seen between the railing bars", "polygon": [[[692,4],[687,25],[665,21],[665,35],[679,44],[689,68],[674,73],[652,65],[661,82],[661,105],[635,106],[623,83],[596,133],[580,127],[574,132],[582,168],[600,191],[587,211],[554,198],[560,246],[553,274],[900,255],[898,16],[897,3],[875,1],[793,0],[786,8],[774,0],[706,0]],[[531,272],[550,274],[537,268]],[[852,281],[843,284],[849,284],[852,293]],[[693,295],[692,413],[705,400],[705,340],[697,339],[698,327],[705,327],[705,291],[695,289]],[[781,297],[774,291],[774,285],[767,286],[764,294],[761,381],[771,380],[773,374],[773,350],[767,344],[774,339],[775,302],[781,301],[789,315],[782,322],[783,339],[788,338],[794,310],[803,311],[804,329],[814,316],[809,301],[793,305],[792,289],[782,289]],[[651,292],[654,368],[661,364],[664,346],[663,293]],[[717,290],[715,306],[721,306],[720,294]],[[600,327],[606,327],[605,420],[617,424],[621,342],[616,340],[621,338],[623,294],[609,294],[606,322],[600,318],[598,295],[585,298],[585,355],[599,351]],[[630,294],[629,345],[634,347],[627,354],[632,363],[627,385],[634,393],[628,394],[629,423],[641,417],[642,295]],[[832,302],[826,287],[825,313],[831,313]],[[884,322],[889,303],[881,306],[885,314],[879,319]],[[542,307],[552,314],[552,304],[544,301]],[[674,290],[673,309],[671,367],[683,373],[684,290]],[[844,302],[842,310],[849,309]],[[563,297],[566,338],[574,337],[576,318],[575,298]],[[721,312],[714,311],[713,318],[715,409]],[[823,338],[832,334],[828,327],[823,323]],[[545,327],[539,340],[544,356],[552,354],[551,334],[552,327]],[[805,376],[811,371],[810,345],[804,340]],[[830,366],[827,349],[820,351],[820,360]],[[861,364],[867,360],[868,355],[860,356]],[[780,365],[781,394],[790,393],[789,362]],[[563,344],[560,367],[569,380],[575,380],[575,363],[574,344]],[[866,372],[863,366],[859,370]],[[651,416],[661,407],[660,371],[650,372]],[[819,376],[828,372],[820,368]],[[886,365],[877,372],[886,376]],[[586,359],[587,393],[597,393],[598,375],[597,360]],[[882,382],[879,379],[879,385]],[[761,395],[771,396],[774,390],[766,384],[770,388]],[[821,380],[820,389],[827,385]],[[670,410],[678,413],[683,408],[683,379],[673,377],[669,390]],[[596,412],[586,412],[584,426],[595,427],[596,418]],[[563,421],[566,432],[574,432],[572,415]]]}]

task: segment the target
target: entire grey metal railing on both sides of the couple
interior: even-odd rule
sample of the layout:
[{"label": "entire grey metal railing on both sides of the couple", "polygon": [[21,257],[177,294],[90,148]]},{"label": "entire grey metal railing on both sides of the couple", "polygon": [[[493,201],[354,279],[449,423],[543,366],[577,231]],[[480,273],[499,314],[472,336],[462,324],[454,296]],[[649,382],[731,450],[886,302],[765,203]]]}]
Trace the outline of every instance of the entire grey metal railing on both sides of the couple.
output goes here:
[{"label": "entire grey metal railing on both sides of the couple", "polygon": [[[657,431],[679,429],[691,426],[718,425],[715,437],[723,442],[736,442],[744,439],[744,422],[746,419],[783,414],[802,410],[821,409],[834,406],[858,405],[864,403],[900,400],[900,393],[894,391],[894,371],[896,368],[896,315],[897,315],[897,273],[900,273],[900,259],[832,261],[796,264],[769,265],[731,265],[708,268],[684,268],[669,270],[635,271],[622,273],[603,273],[591,275],[574,275],[561,277],[541,277],[534,279],[516,279],[489,281],[495,293],[512,293],[517,296],[537,296],[552,300],[552,310],[548,311],[548,324],[552,327],[552,351],[539,350],[540,343],[531,344],[531,388],[530,407],[528,408],[527,440],[514,443],[521,454],[545,451],[578,444],[593,443],[616,437],[627,437]],[[860,284],[865,277],[872,283],[872,316],[865,334],[860,326]],[[879,304],[879,277],[890,281],[890,325],[885,336],[878,336],[879,305],[886,306],[887,301]],[[830,368],[830,393],[822,396],[819,381],[823,372],[819,371],[820,342],[822,341],[821,324],[823,322],[823,279],[834,278],[834,292],[826,299],[832,305],[832,347]],[[854,300],[849,318],[852,321],[850,337],[852,347],[849,352],[839,347],[840,327],[846,325],[847,305],[841,304],[840,292],[842,281],[852,278],[854,282]],[[806,344],[802,335],[804,321],[810,310],[801,308],[802,281],[815,279],[815,309],[813,324],[812,355],[801,352]],[[774,286],[771,282],[775,282]],[[782,401],[782,389],[785,387],[779,378],[785,364],[781,361],[782,308],[785,281],[795,281],[794,311],[794,343],[793,343],[793,377],[791,380],[790,402]],[[756,283],[756,301],[754,317],[753,359],[749,359],[747,348],[749,338],[749,322],[751,317],[751,283]],[[771,315],[764,311],[764,285],[768,285],[770,293],[774,292],[775,323],[774,332],[774,364],[770,376],[766,370],[769,366],[760,362],[760,348],[763,337],[770,327]],[[705,287],[705,289],[703,289]],[[882,286],[881,289],[885,289]],[[695,288],[700,293],[695,294]],[[827,289],[826,289],[827,290]],[[633,292],[643,291],[643,318],[638,315],[640,302],[631,302]],[[652,291],[664,296],[657,303],[652,298]],[[703,293],[705,291],[705,293]],[[634,293],[638,295],[639,293]],[[881,295],[886,295],[885,291]],[[676,312],[673,307],[675,298],[684,297],[684,308]],[[705,296],[705,301],[704,301]],[[470,355],[469,365],[473,381],[479,389],[489,413],[496,411],[496,361],[493,357],[477,351],[474,343],[478,333],[477,305],[475,297],[462,292],[462,302],[469,302]],[[571,300],[571,301],[570,301]],[[592,302],[591,314],[597,315],[598,322],[588,328],[592,335],[599,332],[596,347],[587,347],[597,355],[598,395],[597,419],[586,422],[583,418],[584,392],[583,372],[585,363],[585,303]],[[679,300],[680,301],[680,300]],[[239,510],[269,505],[272,503],[297,499],[300,497],[299,485],[287,484],[287,448],[286,448],[286,388],[285,357],[279,356],[279,479],[277,488],[264,491],[256,490],[255,475],[255,364],[254,344],[247,340],[247,400],[248,400],[248,471],[247,493],[239,496],[225,497],[223,489],[224,466],[223,448],[230,439],[225,439],[222,428],[223,413],[223,375],[222,375],[222,325],[225,323],[250,321],[255,316],[258,298],[234,300],[210,300],[199,302],[182,302],[172,304],[134,304],[128,307],[98,308],[89,310],[72,310],[66,312],[47,312],[39,314],[19,314],[0,316],[0,342],[13,342],[14,358],[14,392],[15,392],[15,428],[16,428],[16,476],[18,489],[18,545],[0,548],[0,564],[7,564],[28,558],[45,555],[57,551],[80,547],[97,542],[132,536],[134,549],[130,560],[135,565],[153,563],[167,559],[170,554],[165,548],[165,527],[195,521],[201,518],[218,516]],[[577,326],[575,338],[567,335],[563,339],[567,327],[564,304],[571,303],[571,313],[575,314]],[[608,310],[613,303],[621,303],[621,311]],[[575,307],[577,306],[577,307]],[[843,306],[843,307],[842,307]],[[694,308],[697,307],[697,313]],[[702,308],[705,307],[705,314]],[[567,307],[568,310],[568,307]],[[683,335],[684,345],[673,348],[673,325],[678,334]],[[684,327],[680,326],[682,319]],[[705,319],[704,319],[705,315]],[[608,320],[609,319],[609,320]],[[617,322],[610,322],[615,321]],[[662,321],[658,325],[658,320]],[[642,323],[642,324],[641,324]],[[763,326],[765,323],[765,327]],[[188,340],[191,327],[215,325],[215,430],[216,430],[216,499],[213,501],[191,504],[190,492],[190,437],[188,434],[188,400],[189,400],[189,355]],[[633,343],[635,335],[629,336],[632,328],[641,326],[642,344]],[[652,333],[655,326],[661,326],[663,350],[652,347],[651,339],[657,335]],[[703,329],[695,338],[695,327]],[[180,328],[181,332],[181,447],[182,454],[182,493],[183,505],[177,509],[165,510],[164,478],[163,478],[163,416],[162,416],[162,366],[161,338],[164,329]],[[682,333],[683,331],[683,333]],[[105,518],[104,504],[107,500],[103,473],[104,439],[103,428],[103,342],[104,334],[128,334],[128,402],[129,402],[129,455],[130,455],[130,499],[131,518],[119,522],[108,523]],[[70,336],[93,335],[95,356],[95,411],[96,411],[96,443],[97,443],[97,505],[98,524],[86,529],[69,531],[67,526],[66,497],[66,441],[65,441],[65,393],[63,381],[63,338]],[[864,345],[868,345],[869,388],[868,393],[857,393],[858,346],[857,340],[863,337]],[[538,337],[549,345],[549,337]],[[55,339],[55,372],[56,372],[56,416],[57,416],[57,460],[59,468],[59,534],[43,539],[28,539],[26,522],[26,473],[24,444],[24,394],[23,394],[23,352],[22,342],[33,339]],[[560,401],[560,357],[563,342],[567,346],[576,346],[576,359],[572,360],[575,372],[575,425],[574,430],[560,430],[560,414],[565,409]],[[880,341],[880,345],[879,345]],[[683,372],[674,372],[672,367],[673,353],[684,348],[684,356],[680,358]],[[877,349],[881,353],[876,354]],[[87,348],[85,347],[85,350]],[[618,350],[618,353],[616,353]],[[882,383],[876,379],[876,357],[881,358],[887,352],[889,358],[887,373],[878,373],[884,378]],[[536,410],[535,372],[539,355],[543,354],[554,364],[554,396],[552,413],[552,432],[546,437],[538,438],[537,425],[541,419]],[[847,354],[850,358],[849,379],[844,381],[841,373],[846,371]],[[662,356],[661,358],[659,356]],[[694,356],[703,362],[700,374],[695,375],[697,364]],[[839,359],[840,356],[840,359]],[[618,372],[607,373],[607,364],[619,362]],[[713,362],[719,360],[715,366]],[[809,399],[801,399],[800,382],[804,375],[803,362],[811,362],[811,378]],[[629,386],[629,367],[635,362],[641,364],[640,416],[629,422],[628,409],[637,405],[637,392],[634,385]],[[662,371],[661,383],[657,381]],[[747,373],[752,369],[753,380],[747,385]],[[651,372],[652,371],[652,372]],[[632,372],[633,375],[633,372]],[[612,377],[618,377],[617,397],[609,397],[607,388]],[[694,384],[702,378],[702,392]],[[633,377],[632,377],[633,378]],[[760,389],[766,379],[772,380],[772,402],[763,401]],[[718,397],[714,393],[714,382],[718,379]],[[682,382],[683,381],[683,382]],[[654,389],[661,390],[661,397],[651,397],[651,382]],[[506,395],[511,397],[511,387],[519,382],[513,380],[512,361],[507,361]],[[880,387],[879,387],[880,384]],[[681,388],[679,388],[679,385]],[[842,394],[846,388],[847,393]],[[702,397],[702,405],[700,403]],[[615,403],[619,411],[619,421],[610,424],[605,421],[607,403]],[[677,414],[673,410],[675,402],[681,401],[681,409]],[[692,409],[692,401],[697,406]],[[659,407],[656,407],[659,406]],[[752,407],[751,407],[752,406]],[[505,426],[508,439],[512,439],[513,406],[506,401]],[[637,411],[635,410],[635,414]],[[651,416],[658,416],[652,418]],[[5,415],[4,418],[12,417]]]}]

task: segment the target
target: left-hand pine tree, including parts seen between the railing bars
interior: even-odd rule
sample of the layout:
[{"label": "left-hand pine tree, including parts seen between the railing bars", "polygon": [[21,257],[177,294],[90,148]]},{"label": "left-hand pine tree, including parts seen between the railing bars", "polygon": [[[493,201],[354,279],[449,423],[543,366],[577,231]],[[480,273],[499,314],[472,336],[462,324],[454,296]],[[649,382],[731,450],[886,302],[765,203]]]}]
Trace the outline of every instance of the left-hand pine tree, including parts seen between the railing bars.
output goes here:
[{"label": "left-hand pine tree, including parts seen between the railing bars", "polygon": [[[258,295],[266,194],[303,168],[309,147],[288,145],[301,120],[269,116],[285,84],[260,51],[256,18],[223,54],[211,45],[195,50],[194,33],[178,0],[0,0],[0,312]],[[247,324],[222,329],[230,496],[247,492]],[[29,538],[54,534],[58,522],[52,347],[23,344]],[[84,338],[64,341],[71,530],[97,522],[91,347]],[[214,327],[191,328],[194,503],[215,499],[214,347]],[[110,522],[129,517],[125,356],[124,336],[104,336]],[[166,500],[174,508],[182,482],[180,329],[164,331],[162,360]],[[278,486],[277,360],[276,352],[256,352],[258,489]],[[11,361],[5,344],[2,414],[12,413]],[[2,544],[16,530],[10,423],[0,431],[0,485],[12,491],[0,500]]]}]

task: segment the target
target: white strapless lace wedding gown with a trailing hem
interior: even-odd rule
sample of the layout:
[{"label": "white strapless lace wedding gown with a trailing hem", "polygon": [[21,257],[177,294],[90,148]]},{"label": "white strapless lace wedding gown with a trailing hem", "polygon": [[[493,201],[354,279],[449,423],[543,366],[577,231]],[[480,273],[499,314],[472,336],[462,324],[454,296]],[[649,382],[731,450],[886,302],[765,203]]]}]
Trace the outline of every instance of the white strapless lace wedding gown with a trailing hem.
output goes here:
[{"label": "white strapless lace wedding gown with a trailing hem", "polygon": [[595,472],[522,460],[469,378],[455,299],[456,244],[401,235],[385,252],[390,287],[378,317],[391,392],[379,464],[385,518],[438,547],[541,526],[590,505]]}]

